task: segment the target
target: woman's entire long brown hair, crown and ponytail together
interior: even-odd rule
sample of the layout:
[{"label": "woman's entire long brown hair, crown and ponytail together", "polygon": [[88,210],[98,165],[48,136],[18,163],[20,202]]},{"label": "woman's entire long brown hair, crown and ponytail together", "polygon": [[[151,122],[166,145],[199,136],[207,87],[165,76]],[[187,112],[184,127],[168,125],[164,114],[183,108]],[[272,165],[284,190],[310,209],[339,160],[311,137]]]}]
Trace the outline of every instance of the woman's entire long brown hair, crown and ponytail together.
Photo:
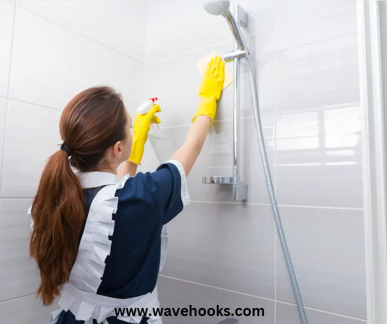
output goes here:
[{"label": "woman's entire long brown hair, crown and ponytail together", "polygon": [[44,305],[60,295],[78,253],[86,207],[81,183],[72,167],[97,169],[106,150],[126,139],[126,113],[121,96],[108,87],[87,89],[64,109],[59,129],[72,151],[58,150],[48,160],[32,204],[34,226],[30,256],[38,264],[41,282],[37,294]]}]

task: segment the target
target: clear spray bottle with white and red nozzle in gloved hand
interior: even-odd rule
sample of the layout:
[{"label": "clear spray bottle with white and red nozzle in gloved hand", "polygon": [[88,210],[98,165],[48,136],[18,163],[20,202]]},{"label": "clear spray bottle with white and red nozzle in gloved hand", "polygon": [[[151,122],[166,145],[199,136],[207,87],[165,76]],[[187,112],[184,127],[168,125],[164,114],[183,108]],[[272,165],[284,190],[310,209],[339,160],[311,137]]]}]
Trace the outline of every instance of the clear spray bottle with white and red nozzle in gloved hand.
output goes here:
[{"label": "clear spray bottle with white and red nozzle in gloved hand", "polygon": [[[150,98],[144,101],[139,108],[137,113],[145,115],[153,108],[153,105],[157,98]],[[151,129],[148,133],[149,142],[152,145],[153,150],[159,160],[159,163],[165,163],[171,159],[171,156],[177,151],[177,146],[169,138],[166,132],[164,132],[159,124],[152,124]]]}]

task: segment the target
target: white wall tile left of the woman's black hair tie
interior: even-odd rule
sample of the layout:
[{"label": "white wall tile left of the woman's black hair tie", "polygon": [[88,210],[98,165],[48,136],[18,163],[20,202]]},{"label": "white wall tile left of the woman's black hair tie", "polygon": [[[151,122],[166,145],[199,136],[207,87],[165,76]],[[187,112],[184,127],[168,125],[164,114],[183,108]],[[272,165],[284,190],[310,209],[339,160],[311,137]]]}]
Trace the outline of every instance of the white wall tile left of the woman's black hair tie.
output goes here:
[{"label": "white wall tile left of the woman's black hair tie", "polygon": [[2,197],[34,197],[47,159],[58,150],[61,111],[9,102]]}]

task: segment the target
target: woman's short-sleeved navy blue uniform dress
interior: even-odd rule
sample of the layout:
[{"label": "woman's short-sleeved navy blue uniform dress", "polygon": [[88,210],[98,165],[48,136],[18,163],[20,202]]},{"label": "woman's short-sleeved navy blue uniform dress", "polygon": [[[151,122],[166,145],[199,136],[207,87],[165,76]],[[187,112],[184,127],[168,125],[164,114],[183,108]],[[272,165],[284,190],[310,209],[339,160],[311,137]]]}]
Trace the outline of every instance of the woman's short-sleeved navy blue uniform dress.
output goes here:
[{"label": "woman's short-sleeved navy blue uniform dress", "polygon": [[[160,265],[161,229],[183,210],[181,185],[178,168],[166,163],[155,172],[138,173],[129,178],[116,191],[118,208],[113,214],[114,232],[109,237],[111,251],[97,294],[126,299],[153,291]],[[85,189],[87,213],[103,187]],[[116,317],[108,317],[108,321],[109,324],[126,323]],[[146,322],[144,317],[141,324]],[[62,311],[58,319],[58,324],[83,323],[70,310]]]}]

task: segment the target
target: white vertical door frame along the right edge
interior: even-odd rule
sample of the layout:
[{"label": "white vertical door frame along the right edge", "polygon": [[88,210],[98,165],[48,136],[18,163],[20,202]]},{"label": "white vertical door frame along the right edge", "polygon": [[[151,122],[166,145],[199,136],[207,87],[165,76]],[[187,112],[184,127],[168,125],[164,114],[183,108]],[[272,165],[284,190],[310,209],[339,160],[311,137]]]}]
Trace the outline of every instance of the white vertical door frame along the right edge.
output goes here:
[{"label": "white vertical door frame along the right edge", "polygon": [[357,0],[368,324],[387,323],[385,5],[375,0]]}]

